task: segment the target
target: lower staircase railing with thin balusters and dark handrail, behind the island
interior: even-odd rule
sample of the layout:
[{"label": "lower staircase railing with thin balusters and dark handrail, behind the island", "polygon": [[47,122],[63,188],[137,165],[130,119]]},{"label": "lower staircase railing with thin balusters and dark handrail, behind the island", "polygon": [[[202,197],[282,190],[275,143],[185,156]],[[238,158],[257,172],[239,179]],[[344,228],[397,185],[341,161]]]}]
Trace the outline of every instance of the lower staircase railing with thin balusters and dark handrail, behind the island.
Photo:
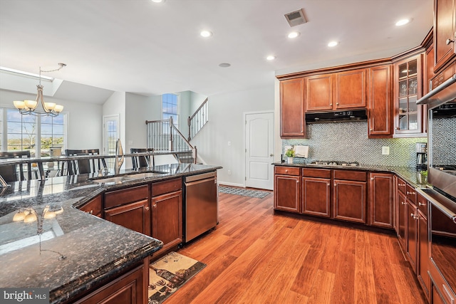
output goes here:
[{"label": "lower staircase railing with thin balusters and dark handrail, behind the island", "polygon": [[193,147],[177,127],[169,120],[146,120],[147,148],[155,151],[192,152],[193,162],[197,162],[197,147]]}]

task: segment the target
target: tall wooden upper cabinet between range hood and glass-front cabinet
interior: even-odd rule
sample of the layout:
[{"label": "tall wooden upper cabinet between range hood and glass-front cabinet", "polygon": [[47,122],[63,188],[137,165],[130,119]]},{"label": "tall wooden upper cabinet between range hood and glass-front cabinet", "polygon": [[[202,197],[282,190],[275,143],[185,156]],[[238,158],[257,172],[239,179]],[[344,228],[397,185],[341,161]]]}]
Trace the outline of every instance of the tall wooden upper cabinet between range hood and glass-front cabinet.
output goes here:
[{"label": "tall wooden upper cabinet between range hood and glass-front cabinet", "polygon": [[368,69],[368,137],[393,136],[392,65]]}]

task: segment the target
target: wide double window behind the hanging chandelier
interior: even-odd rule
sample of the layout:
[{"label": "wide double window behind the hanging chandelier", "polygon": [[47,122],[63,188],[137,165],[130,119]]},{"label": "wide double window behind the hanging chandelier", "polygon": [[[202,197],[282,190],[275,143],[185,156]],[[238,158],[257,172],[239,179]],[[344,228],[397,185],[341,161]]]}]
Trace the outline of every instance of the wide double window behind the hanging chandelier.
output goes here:
[{"label": "wide double window behind the hanging chandelier", "polygon": [[66,114],[57,117],[21,115],[12,108],[1,109],[1,150],[30,150],[32,157],[49,156],[51,147],[66,147]]}]

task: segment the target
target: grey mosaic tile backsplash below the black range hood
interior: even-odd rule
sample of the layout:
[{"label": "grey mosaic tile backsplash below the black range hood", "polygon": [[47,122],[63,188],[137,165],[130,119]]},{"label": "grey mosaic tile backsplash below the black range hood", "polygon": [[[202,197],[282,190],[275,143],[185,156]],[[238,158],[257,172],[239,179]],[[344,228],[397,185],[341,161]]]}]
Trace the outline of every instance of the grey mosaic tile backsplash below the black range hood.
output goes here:
[{"label": "grey mosaic tile backsplash below the black range hood", "polygon": [[[308,139],[282,140],[282,151],[286,145],[309,146],[309,158],[296,157],[296,163],[336,160],[415,167],[415,143],[427,142],[427,137],[369,139],[367,122],[331,122],[311,124],[307,127]],[[389,147],[390,154],[383,155],[382,147]]]}]

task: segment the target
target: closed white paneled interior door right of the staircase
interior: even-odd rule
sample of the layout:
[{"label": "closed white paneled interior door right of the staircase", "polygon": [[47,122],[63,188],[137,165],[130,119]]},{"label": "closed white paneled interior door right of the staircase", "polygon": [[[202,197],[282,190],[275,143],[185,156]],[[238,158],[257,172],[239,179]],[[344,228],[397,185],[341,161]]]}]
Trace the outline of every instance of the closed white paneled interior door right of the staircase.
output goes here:
[{"label": "closed white paneled interior door right of the staircase", "polygon": [[245,115],[245,186],[274,189],[274,113]]}]

